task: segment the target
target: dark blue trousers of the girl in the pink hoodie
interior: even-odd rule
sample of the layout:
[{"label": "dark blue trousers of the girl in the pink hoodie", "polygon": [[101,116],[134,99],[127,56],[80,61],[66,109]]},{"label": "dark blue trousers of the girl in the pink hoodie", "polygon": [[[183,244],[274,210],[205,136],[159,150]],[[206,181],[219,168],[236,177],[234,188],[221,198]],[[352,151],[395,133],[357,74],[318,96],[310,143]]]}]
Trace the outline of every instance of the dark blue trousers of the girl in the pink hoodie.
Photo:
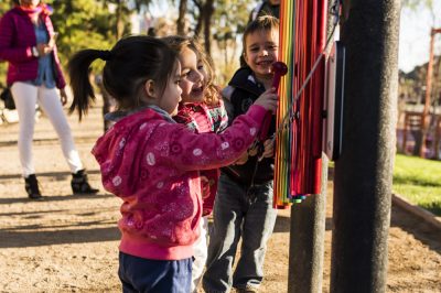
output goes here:
[{"label": "dark blue trousers of the girl in the pink hoodie", "polygon": [[123,293],[189,293],[192,259],[149,260],[119,252],[119,280]]}]

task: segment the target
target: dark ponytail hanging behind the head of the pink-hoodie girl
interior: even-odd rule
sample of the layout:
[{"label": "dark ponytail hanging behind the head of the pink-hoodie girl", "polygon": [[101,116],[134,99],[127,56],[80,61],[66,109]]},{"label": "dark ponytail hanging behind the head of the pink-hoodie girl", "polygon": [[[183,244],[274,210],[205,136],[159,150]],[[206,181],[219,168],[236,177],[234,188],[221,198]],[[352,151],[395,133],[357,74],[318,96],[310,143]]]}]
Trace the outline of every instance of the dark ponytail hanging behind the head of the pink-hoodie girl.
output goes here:
[{"label": "dark ponytail hanging behind the head of the pink-hoodie girl", "polygon": [[110,51],[83,50],[76,53],[68,62],[71,87],[74,94],[69,113],[77,110],[79,120],[82,120],[83,115],[87,113],[90,102],[95,101],[95,93],[89,79],[89,67],[95,59],[108,61],[110,56]]}]

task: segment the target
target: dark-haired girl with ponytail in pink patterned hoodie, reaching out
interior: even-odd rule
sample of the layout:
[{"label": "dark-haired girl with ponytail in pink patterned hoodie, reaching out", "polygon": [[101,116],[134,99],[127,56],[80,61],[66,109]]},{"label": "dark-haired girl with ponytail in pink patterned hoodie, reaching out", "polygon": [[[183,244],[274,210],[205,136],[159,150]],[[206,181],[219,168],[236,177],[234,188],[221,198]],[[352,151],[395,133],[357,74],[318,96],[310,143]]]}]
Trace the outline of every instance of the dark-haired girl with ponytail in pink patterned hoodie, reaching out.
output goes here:
[{"label": "dark-haired girl with ponytail in pink patterned hoodie, reaching out", "polygon": [[277,94],[263,93],[222,134],[194,133],[171,118],[182,89],[176,53],[150,36],[110,51],[84,50],[69,62],[79,119],[94,90],[88,68],[106,61],[103,82],[118,102],[117,122],[93,149],[104,187],[122,199],[119,278],[123,291],[190,292],[192,245],[202,215],[201,170],[228,165],[248,149]]}]

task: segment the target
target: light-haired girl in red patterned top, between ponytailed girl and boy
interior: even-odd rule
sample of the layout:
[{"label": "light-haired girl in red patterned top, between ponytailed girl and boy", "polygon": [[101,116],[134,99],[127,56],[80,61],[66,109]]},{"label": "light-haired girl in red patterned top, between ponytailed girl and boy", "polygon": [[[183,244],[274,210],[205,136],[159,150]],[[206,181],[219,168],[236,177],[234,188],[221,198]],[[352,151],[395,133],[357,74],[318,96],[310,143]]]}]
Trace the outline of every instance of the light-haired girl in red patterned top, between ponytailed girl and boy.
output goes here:
[{"label": "light-haired girl in red patterned top, between ponytailed girl and boy", "polygon": [[[219,89],[213,84],[215,76],[212,61],[196,40],[186,36],[165,36],[162,39],[179,53],[181,62],[182,101],[173,119],[186,124],[196,133],[219,133],[228,126],[228,115]],[[217,193],[218,169],[201,171],[202,219],[201,236],[193,246],[193,281],[191,292],[197,293],[197,285],[207,259],[208,216],[213,211]]]}]

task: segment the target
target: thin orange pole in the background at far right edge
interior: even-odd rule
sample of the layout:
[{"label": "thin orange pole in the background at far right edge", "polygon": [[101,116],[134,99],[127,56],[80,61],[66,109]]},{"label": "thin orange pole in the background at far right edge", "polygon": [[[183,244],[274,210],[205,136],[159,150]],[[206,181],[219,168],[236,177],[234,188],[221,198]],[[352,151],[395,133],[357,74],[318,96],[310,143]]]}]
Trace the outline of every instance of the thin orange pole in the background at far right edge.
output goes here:
[{"label": "thin orange pole in the background at far right edge", "polygon": [[432,74],[433,74],[433,46],[434,46],[434,35],[441,33],[441,29],[432,29],[430,31],[430,48],[429,48],[429,63],[426,76],[426,100],[424,108],[421,116],[421,144],[419,154],[421,158],[426,156],[426,138],[429,130],[429,119],[428,115],[430,111],[430,96],[432,94]]}]

